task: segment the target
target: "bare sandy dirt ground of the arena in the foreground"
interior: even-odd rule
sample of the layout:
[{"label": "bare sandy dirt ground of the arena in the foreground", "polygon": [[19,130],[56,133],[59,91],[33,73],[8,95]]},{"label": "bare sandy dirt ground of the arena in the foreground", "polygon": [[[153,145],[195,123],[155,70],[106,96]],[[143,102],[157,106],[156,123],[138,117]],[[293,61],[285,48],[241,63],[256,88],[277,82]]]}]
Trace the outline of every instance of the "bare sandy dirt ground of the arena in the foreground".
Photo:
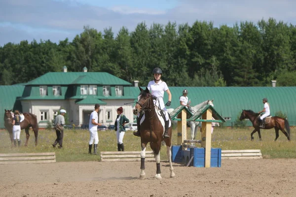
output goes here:
[{"label": "bare sandy dirt ground of the arena in the foreground", "polygon": [[146,162],[62,162],[0,165],[1,197],[295,197],[296,159],[222,160],[222,167],[199,168],[167,162],[162,179]]}]

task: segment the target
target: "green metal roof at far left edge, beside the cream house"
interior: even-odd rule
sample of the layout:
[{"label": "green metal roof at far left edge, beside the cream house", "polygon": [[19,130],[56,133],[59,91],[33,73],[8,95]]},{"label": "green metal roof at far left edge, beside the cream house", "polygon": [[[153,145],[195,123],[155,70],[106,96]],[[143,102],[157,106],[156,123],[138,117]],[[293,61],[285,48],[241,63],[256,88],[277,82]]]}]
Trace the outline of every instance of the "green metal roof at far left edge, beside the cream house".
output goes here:
[{"label": "green metal roof at far left edge, beside the cream house", "polygon": [[24,89],[22,85],[0,86],[0,128],[4,128],[4,109],[22,111],[21,102],[16,99],[22,96]]}]

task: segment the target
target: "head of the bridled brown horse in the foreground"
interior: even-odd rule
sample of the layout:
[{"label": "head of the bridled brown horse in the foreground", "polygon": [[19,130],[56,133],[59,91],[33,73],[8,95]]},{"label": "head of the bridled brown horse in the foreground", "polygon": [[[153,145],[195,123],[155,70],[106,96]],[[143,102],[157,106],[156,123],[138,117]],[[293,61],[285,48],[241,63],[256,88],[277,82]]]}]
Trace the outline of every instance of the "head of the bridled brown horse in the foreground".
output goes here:
[{"label": "head of the bridled brown horse in the foreground", "polygon": [[135,109],[133,109],[133,113],[138,115],[140,112],[144,113],[145,110],[151,110],[154,107],[152,96],[146,87],[146,90],[139,87],[141,93],[138,96],[138,101],[136,102]]}]

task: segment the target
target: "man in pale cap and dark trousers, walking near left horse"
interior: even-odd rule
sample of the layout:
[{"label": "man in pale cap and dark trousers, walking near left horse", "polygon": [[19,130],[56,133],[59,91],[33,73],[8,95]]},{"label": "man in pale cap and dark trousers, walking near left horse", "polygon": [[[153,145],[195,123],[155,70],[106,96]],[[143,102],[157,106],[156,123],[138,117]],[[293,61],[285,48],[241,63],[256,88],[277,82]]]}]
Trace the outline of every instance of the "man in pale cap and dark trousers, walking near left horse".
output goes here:
[{"label": "man in pale cap and dark trousers, walking near left horse", "polygon": [[64,138],[64,128],[63,126],[65,125],[65,117],[64,115],[66,114],[65,109],[60,110],[60,114],[56,116],[54,125],[55,125],[55,131],[57,134],[57,138],[52,144],[52,146],[55,148],[57,143],[59,143],[59,148],[63,148],[63,138]]}]

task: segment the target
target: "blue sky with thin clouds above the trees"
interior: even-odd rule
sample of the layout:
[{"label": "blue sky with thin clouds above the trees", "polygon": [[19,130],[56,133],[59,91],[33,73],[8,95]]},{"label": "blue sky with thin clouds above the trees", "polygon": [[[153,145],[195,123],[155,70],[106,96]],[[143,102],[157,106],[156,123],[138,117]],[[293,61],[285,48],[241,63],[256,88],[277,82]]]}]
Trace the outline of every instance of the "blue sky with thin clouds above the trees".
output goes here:
[{"label": "blue sky with thin clouds above the trees", "polygon": [[214,26],[268,20],[296,25],[296,0],[0,0],[0,46],[21,40],[59,42],[83,31],[83,26],[116,33],[130,32],[145,22],[169,21],[192,25],[212,21]]}]

